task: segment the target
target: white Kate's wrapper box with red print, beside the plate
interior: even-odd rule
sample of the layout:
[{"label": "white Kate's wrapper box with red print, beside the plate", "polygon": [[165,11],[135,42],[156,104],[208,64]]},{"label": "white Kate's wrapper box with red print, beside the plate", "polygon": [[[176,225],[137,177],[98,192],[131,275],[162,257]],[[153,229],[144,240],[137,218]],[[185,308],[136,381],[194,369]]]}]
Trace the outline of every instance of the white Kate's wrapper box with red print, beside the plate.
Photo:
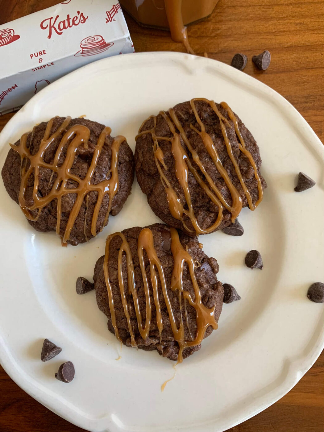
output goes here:
[{"label": "white Kate's wrapper box with red print, beside the plate", "polygon": [[132,52],[117,0],[65,0],[0,25],[0,115],[78,67]]}]

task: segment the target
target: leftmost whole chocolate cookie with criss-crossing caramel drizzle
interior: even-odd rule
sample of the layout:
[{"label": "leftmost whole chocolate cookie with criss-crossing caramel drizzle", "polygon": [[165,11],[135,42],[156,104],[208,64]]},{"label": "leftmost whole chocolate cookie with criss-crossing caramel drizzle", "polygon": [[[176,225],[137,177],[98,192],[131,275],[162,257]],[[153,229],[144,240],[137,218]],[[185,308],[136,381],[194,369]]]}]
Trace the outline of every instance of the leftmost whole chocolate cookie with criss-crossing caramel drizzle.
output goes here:
[{"label": "leftmost whole chocolate cookie with criss-crossing caramel drizzle", "polygon": [[110,127],[54,117],[25,133],[2,168],[3,183],[29,223],[78,245],[117,215],[134,178],[133,152]]}]

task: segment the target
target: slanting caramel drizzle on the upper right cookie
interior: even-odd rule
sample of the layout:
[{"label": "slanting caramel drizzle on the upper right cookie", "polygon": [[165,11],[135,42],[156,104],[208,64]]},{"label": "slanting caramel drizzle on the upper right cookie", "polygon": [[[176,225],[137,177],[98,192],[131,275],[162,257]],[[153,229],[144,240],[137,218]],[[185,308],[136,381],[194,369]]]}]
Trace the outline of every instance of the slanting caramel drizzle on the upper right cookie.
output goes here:
[{"label": "slanting caramel drizzle on the upper right cookie", "polygon": [[[146,134],[146,133],[151,134],[151,137],[153,140],[154,159],[156,162],[156,167],[157,167],[159,174],[160,174],[161,182],[165,188],[170,213],[175,219],[181,220],[184,228],[188,232],[195,232],[198,235],[198,234],[207,234],[209,232],[213,232],[219,226],[219,224],[222,222],[222,219],[223,219],[223,209],[224,208],[231,213],[232,222],[234,222],[235,219],[237,218],[238,214],[240,213],[241,209],[242,209],[242,199],[241,199],[241,196],[240,196],[238,190],[236,189],[236,187],[232,183],[231,179],[229,178],[229,175],[228,175],[226,169],[222,165],[222,161],[219,158],[219,155],[218,155],[216,147],[213,143],[212,137],[210,137],[210,135],[206,132],[206,128],[203,124],[203,121],[200,119],[200,117],[197,113],[197,109],[196,109],[196,106],[194,104],[195,101],[203,101],[203,102],[208,103],[210,105],[210,107],[213,109],[213,111],[215,112],[215,114],[217,115],[217,117],[219,118],[219,123],[221,126],[222,136],[224,138],[227,153],[229,155],[229,158],[232,161],[232,164],[235,168],[236,175],[238,176],[241,187],[242,187],[242,189],[245,193],[245,196],[248,200],[248,205],[249,205],[250,210],[255,210],[255,208],[261,202],[261,200],[263,198],[263,189],[262,189],[260,176],[257,172],[257,166],[254,162],[254,159],[253,159],[251,153],[246,149],[244,139],[243,139],[241,132],[238,128],[238,121],[237,121],[233,111],[231,110],[231,108],[229,108],[229,106],[225,102],[222,102],[221,106],[222,106],[222,108],[224,108],[227,111],[229,118],[232,120],[232,122],[234,124],[235,133],[239,139],[238,148],[248,158],[249,162],[251,163],[251,166],[254,169],[254,176],[257,180],[257,187],[258,187],[258,192],[259,192],[259,198],[255,204],[253,204],[253,202],[252,202],[251,194],[245,185],[245,182],[244,182],[244,179],[242,177],[241,171],[239,169],[238,163],[236,162],[235,156],[233,154],[231,143],[229,142],[229,138],[228,138],[227,131],[226,131],[226,126],[232,128],[232,125],[221,114],[221,112],[218,110],[214,101],[210,101],[206,98],[191,99],[191,101],[190,101],[191,108],[194,112],[196,121],[199,124],[200,130],[197,130],[197,128],[194,127],[192,124],[190,125],[190,127],[192,130],[194,130],[197,133],[197,135],[200,136],[205,149],[207,150],[210,158],[213,160],[214,164],[216,165],[216,168],[218,169],[218,171],[219,171],[220,175],[222,176],[227,188],[229,189],[229,192],[230,192],[231,197],[232,197],[232,204],[228,203],[225,200],[225,198],[222,196],[221,191],[218,189],[218,187],[216,187],[216,184],[213,182],[213,180],[210,177],[210,175],[208,174],[208,172],[206,172],[206,169],[205,169],[203,163],[200,161],[197,152],[191,146],[191,143],[188,140],[188,138],[184,132],[184,129],[181,126],[179,118],[178,118],[177,114],[175,114],[174,109],[173,108],[169,109],[169,111],[168,111],[169,115],[167,115],[165,113],[165,111],[159,112],[159,114],[162,115],[162,117],[167,122],[168,127],[169,127],[171,133],[173,134],[172,138],[158,137],[156,135],[156,132],[155,132],[157,116],[154,116],[154,115],[150,116],[147,120],[149,120],[150,118],[153,119],[152,129],[143,130],[142,132],[139,131],[139,134],[137,135],[136,140],[138,137],[142,136],[143,134]],[[144,121],[143,124],[146,121]],[[143,124],[140,127],[140,130],[142,129]],[[179,131],[178,133],[176,132],[175,127],[178,129],[178,131]],[[182,138],[182,141],[185,143],[185,145],[187,147],[187,151],[190,152],[192,159],[197,164],[199,170],[203,173],[206,181],[203,180],[203,178],[200,176],[197,169],[194,168],[194,166],[192,165],[191,160],[189,159],[188,153],[183,148],[183,146],[181,146],[180,138]],[[180,198],[178,198],[177,191],[172,187],[172,185],[170,184],[170,181],[168,181],[168,178],[165,175],[165,171],[168,170],[168,167],[165,165],[164,155],[163,155],[161,147],[159,146],[159,140],[165,140],[165,141],[169,141],[171,143],[171,152],[172,152],[172,156],[175,160],[175,175],[176,175],[176,178],[178,180],[178,183],[180,184],[180,186],[184,192],[184,198],[185,198],[185,201],[187,203],[188,210],[184,209],[184,206],[181,204]],[[196,179],[197,183],[200,185],[200,187],[203,189],[203,191],[208,195],[210,200],[218,207],[217,219],[213,223],[213,225],[211,225],[207,229],[203,229],[199,226],[198,220],[194,214],[194,207],[193,207],[193,204],[191,201],[191,195],[190,195],[190,190],[189,190],[189,185],[188,185],[189,172],[191,172],[191,174],[194,175],[194,178]],[[194,227],[194,231],[191,229],[188,229],[188,227],[186,226],[186,224],[184,222],[184,215],[189,217],[189,219],[191,220],[192,226]]]}]

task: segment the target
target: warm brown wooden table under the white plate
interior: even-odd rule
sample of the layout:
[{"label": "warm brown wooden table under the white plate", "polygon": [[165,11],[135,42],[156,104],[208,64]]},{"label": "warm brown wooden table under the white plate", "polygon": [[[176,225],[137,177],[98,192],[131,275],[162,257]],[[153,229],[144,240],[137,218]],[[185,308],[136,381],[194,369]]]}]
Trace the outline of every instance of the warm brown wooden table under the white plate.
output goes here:
[{"label": "warm brown wooden table under the white plate", "polygon": [[[56,3],[57,0],[0,0],[0,24]],[[126,19],[137,52],[184,51],[167,32],[143,29],[127,15]],[[323,0],[219,0],[210,19],[189,27],[188,35],[197,54],[206,51],[209,57],[225,63],[230,63],[236,52],[248,55],[245,73],[287,98],[324,142]],[[251,57],[265,49],[271,52],[271,65],[260,72],[254,68]],[[12,116],[0,116],[0,130]],[[1,432],[82,430],[32,399],[0,367]],[[285,397],[229,430],[323,432],[324,352]]]}]

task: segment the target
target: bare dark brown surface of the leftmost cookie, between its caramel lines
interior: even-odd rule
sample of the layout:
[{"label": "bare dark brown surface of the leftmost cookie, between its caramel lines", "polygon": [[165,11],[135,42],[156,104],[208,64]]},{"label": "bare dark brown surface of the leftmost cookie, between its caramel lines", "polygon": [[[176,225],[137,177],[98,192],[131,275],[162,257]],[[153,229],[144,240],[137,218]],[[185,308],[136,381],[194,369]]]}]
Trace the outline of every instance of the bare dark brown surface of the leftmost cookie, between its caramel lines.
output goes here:
[{"label": "bare dark brown surface of the leftmost cookie, between its caramel lines", "polygon": [[[78,198],[78,195],[73,193],[73,188],[78,187],[78,184],[80,184],[78,182],[79,179],[83,180],[86,178],[86,176],[90,175],[90,166],[93,163],[93,159],[95,159],[93,156],[97,151],[96,145],[98,144],[101,133],[103,133],[105,129],[104,125],[95,121],[90,121],[84,118],[75,118],[71,119],[67,126],[64,127],[63,130],[59,131],[60,133],[56,133],[64,123],[64,120],[65,118],[60,117],[55,117],[53,119],[53,124],[51,126],[51,130],[49,131],[49,135],[50,137],[53,137],[53,140],[51,140],[51,143],[49,143],[46,151],[44,152],[44,156],[42,159],[40,159],[41,164],[44,162],[44,164],[55,165],[55,157],[59,156],[57,159],[57,167],[59,169],[66,161],[67,154],[69,149],[71,149],[73,139],[79,139],[79,145],[76,147],[74,159],[71,160],[71,168],[66,182],[66,189],[72,189],[72,191],[71,193],[65,193],[61,198],[61,216],[59,218],[59,234],[61,238],[64,237],[71,210],[76,204],[76,200]],[[25,171],[28,170],[30,165],[30,157],[39,153],[38,150],[42,145],[42,140],[44,138],[47,125],[48,123],[43,122],[36,126],[33,132],[28,134],[26,140],[26,148],[28,150],[27,158],[24,158],[22,161],[20,154],[15,150],[15,146],[19,146],[21,144],[21,140],[15,143],[15,146],[9,150],[8,156],[6,157],[6,162],[2,169],[3,183],[6,187],[6,191],[10,197],[16,201],[16,203],[19,203],[22,169],[25,169]],[[67,131],[71,129],[74,133],[71,133],[71,136],[66,138],[66,143],[59,155],[58,148],[60,143],[63,142],[64,135],[67,133]],[[86,145],[84,145],[84,142],[81,140],[81,132],[84,133],[84,131],[87,130],[89,132],[89,140],[87,141]],[[79,203],[79,212],[76,215],[69,238],[67,239],[67,243],[70,243],[71,245],[83,243],[94,236],[91,230],[92,217],[94,215],[95,204],[98,198],[98,191],[94,190],[94,185],[102,184],[103,181],[106,181],[111,176],[113,143],[114,138],[111,137],[110,134],[107,134],[100,155],[96,161],[94,171],[91,178],[89,179],[89,183],[92,187],[89,188],[89,192],[84,194],[84,196],[81,198],[81,202]],[[49,196],[49,194],[54,195],[53,187],[55,187],[54,184],[57,179],[57,173],[49,168],[41,166],[41,164],[39,164],[38,172],[37,197],[44,199],[44,197]],[[116,171],[118,172],[118,191],[112,199],[110,209],[110,213],[113,216],[117,215],[121,211],[128,195],[130,194],[131,185],[133,183],[133,166],[133,153],[127,142],[124,140],[121,142],[118,149],[118,163],[116,165]],[[24,199],[26,206],[29,207],[35,204],[35,198],[33,196],[35,180],[34,172],[35,171],[31,172],[25,190]],[[62,187],[62,183],[57,187],[60,189]],[[98,217],[95,219],[95,233],[98,233],[103,228],[103,226],[108,223],[108,220],[105,223],[108,206],[109,196],[108,194],[105,194],[102,204],[99,208]],[[57,198],[54,198],[44,206],[38,216],[38,219],[29,220],[29,223],[37,231],[56,231],[58,219],[57,210]],[[38,210],[30,210],[29,213],[31,218],[35,219],[38,214]]]}]

